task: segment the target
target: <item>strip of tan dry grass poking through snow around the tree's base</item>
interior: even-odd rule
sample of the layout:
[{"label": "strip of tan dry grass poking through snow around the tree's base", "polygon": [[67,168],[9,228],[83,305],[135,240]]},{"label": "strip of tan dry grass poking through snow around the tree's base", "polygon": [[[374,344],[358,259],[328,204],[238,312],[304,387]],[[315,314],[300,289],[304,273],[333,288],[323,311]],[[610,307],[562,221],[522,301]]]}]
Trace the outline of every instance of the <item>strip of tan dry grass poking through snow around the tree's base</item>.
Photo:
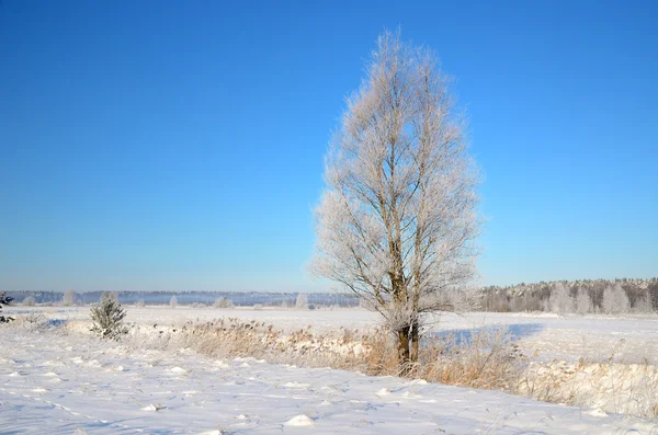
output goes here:
[{"label": "strip of tan dry grass poking through snow around the tree's base", "polygon": [[431,382],[502,390],[533,399],[597,408],[605,412],[658,416],[658,367],[614,363],[541,363],[524,355],[504,329],[426,336],[419,363],[398,365],[394,335],[341,328],[316,334],[309,327],[284,334],[262,322],[235,318],[189,324],[175,346],[214,357],[254,357],[271,363],[332,367],[367,375],[421,378]]}]

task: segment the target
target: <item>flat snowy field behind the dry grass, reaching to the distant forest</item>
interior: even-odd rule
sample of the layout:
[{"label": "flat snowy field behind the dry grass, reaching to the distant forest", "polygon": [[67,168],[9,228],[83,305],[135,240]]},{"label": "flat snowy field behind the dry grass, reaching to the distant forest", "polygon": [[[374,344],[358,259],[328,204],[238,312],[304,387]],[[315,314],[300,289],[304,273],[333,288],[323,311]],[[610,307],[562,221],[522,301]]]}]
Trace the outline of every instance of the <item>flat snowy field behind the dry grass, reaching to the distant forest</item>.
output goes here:
[{"label": "flat snowy field behind the dry grass, reaching to the distant forest", "polygon": [[[367,329],[379,324],[379,318],[363,309],[286,310],[286,309],[216,309],[127,306],[127,322],[140,325],[182,325],[188,321],[209,321],[219,317],[258,320],[292,331],[311,325],[316,332],[330,333],[339,327]],[[8,313],[39,311],[50,319],[89,321],[89,307],[11,307]],[[658,365],[658,316],[603,317],[541,313],[474,312],[446,314],[431,322],[432,332],[457,331],[502,325],[521,340],[523,350],[542,360],[580,358],[600,362],[614,357],[625,364]]]}]

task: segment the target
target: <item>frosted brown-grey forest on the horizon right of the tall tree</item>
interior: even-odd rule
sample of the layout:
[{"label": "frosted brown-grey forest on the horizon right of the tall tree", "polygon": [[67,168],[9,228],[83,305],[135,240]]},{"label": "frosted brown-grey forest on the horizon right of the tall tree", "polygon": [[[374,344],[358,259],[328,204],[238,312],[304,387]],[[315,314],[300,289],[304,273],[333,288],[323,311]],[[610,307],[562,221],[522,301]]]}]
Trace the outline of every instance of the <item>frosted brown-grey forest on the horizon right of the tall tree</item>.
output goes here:
[{"label": "frosted brown-grey forest on the horizon right of the tall tree", "polygon": [[626,313],[658,311],[658,278],[561,281],[484,288],[484,311]]}]

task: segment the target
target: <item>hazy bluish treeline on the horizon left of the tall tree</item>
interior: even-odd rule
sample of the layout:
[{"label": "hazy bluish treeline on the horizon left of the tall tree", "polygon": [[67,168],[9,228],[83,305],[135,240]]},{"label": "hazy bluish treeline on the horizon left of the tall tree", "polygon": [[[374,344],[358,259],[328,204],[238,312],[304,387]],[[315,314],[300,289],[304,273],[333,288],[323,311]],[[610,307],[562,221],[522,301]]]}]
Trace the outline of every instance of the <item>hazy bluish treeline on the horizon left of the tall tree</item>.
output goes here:
[{"label": "hazy bluish treeline on the horizon left of the tall tree", "polygon": [[[15,304],[26,305],[88,305],[100,301],[104,291],[8,291]],[[170,305],[175,296],[178,305],[214,305],[217,299],[226,298],[236,307],[294,307],[298,293],[266,293],[266,291],[113,291],[118,295],[121,304],[134,305]],[[336,293],[307,294],[309,306],[356,307],[359,298],[352,295]]]}]

